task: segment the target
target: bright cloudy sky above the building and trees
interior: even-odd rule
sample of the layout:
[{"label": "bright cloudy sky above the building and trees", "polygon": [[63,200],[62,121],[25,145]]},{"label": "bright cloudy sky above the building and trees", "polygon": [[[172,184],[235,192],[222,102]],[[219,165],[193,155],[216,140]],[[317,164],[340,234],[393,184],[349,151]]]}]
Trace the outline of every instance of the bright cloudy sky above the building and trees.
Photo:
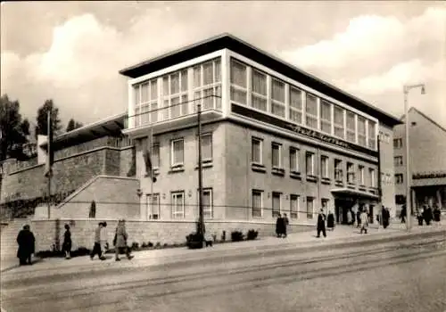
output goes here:
[{"label": "bright cloudy sky above the building and trees", "polygon": [[2,3],[1,93],[31,120],[52,98],[64,124],[127,108],[119,70],[230,32],[399,117],[409,104],[446,127],[446,5],[379,2]]}]

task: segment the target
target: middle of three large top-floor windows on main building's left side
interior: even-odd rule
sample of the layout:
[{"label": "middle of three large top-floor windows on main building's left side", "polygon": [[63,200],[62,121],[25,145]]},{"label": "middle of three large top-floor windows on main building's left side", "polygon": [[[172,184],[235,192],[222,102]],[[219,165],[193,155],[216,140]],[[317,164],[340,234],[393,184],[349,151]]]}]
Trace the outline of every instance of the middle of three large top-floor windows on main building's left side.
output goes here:
[{"label": "middle of three large top-floor windows on main building's left side", "polygon": [[[187,70],[177,71],[162,78],[162,100],[164,119],[186,115]],[[168,108],[169,109],[166,109]]]}]

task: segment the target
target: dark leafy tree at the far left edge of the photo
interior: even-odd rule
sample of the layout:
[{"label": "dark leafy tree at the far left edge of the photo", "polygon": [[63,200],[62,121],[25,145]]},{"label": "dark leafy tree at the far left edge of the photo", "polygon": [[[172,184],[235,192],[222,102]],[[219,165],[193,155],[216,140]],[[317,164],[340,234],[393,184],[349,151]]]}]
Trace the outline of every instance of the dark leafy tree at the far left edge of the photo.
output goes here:
[{"label": "dark leafy tree at the far left edge of the photo", "polygon": [[28,142],[28,119],[21,120],[19,101],[11,101],[7,94],[0,98],[0,161],[7,157],[21,158],[22,144]]}]

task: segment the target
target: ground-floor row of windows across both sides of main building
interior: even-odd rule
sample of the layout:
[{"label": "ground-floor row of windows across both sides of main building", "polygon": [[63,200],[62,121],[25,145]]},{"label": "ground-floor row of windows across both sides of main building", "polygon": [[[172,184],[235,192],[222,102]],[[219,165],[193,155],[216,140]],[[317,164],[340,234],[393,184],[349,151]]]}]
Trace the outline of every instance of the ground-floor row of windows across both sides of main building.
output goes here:
[{"label": "ground-floor row of windows across both sides of main building", "polygon": [[[307,219],[312,219],[315,214],[316,199],[307,196],[306,207],[301,210],[301,195],[290,194],[289,206],[285,206],[284,194],[279,192],[271,193],[270,208],[265,207],[264,191],[252,190],[252,218],[263,218],[265,210],[271,210],[272,218],[277,218],[279,214],[287,213],[290,218],[300,218],[300,215],[305,213]],[[304,200],[305,201],[305,200]],[[321,208],[328,208],[328,199],[321,200]],[[164,206],[166,204],[163,203]],[[184,191],[177,191],[170,193],[170,218],[180,219],[186,216],[186,194]],[[146,194],[147,218],[151,220],[161,219],[161,196],[160,193]],[[214,204],[212,197],[212,188],[204,188],[202,190],[202,207],[203,217],[214,217]],[[198,212],[198,203],[194,205],[195,213]],[[240,207],[240,209],[247,209]]]}]

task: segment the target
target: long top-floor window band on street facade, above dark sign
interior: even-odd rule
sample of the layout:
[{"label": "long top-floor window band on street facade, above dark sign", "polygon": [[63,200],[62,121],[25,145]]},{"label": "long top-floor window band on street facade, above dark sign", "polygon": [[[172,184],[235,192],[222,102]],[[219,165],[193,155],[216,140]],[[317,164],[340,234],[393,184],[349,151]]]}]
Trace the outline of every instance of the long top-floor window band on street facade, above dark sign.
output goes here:
[{"label": "long top-floor window band on street facade, above dark sign", "polygon": [[231,100],[376,149],[376,122],[231,59]]}]

